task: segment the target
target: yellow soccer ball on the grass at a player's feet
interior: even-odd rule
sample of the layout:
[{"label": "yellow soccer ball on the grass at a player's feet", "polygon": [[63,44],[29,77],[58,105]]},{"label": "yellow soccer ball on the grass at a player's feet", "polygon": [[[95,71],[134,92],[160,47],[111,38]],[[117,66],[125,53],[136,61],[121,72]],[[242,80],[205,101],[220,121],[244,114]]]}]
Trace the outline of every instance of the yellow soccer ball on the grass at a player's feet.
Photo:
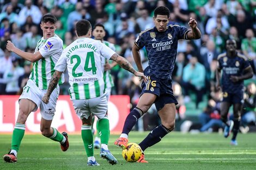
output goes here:
[{"label": "yellow soccer ball on the grass at a player's feet", "polygon": [[137,143],[128,143],[126,149],[123,149],[122,155],[127,162],[136,162],[141,158],[142,150]]}]

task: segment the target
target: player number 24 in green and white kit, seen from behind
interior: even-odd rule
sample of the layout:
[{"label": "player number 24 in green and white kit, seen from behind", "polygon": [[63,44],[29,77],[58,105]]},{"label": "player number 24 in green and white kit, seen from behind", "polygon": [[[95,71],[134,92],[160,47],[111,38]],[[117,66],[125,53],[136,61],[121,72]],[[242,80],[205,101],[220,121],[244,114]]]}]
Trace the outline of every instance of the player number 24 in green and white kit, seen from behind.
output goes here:
[{"label": "player number 24 in green and white kit, seen from behind", "polygon": [[117,62],[125,70],[136,76],[147,78],[143,73],[137,72],[123,57],[116,54],[101,41],[91,39],[92,26],[87,20],[76,23],[77,40],[66,47],[60,56],[54,69],[56,70],[51,79],[47,93],[42,98],[48,103],[52,91],[58,84],[62,73],[68,68],[70,97],[77,116],[82,121],[81,135],[84,148],[88,156],[88,166],[99,166],[94,158],[92,116],[99,118],[99,131],[101,133],[100,156],[112,165],[117,164],[117,159],[108,150],[109,121],[107,117],[107,98],[101,56],[105,59]]}]

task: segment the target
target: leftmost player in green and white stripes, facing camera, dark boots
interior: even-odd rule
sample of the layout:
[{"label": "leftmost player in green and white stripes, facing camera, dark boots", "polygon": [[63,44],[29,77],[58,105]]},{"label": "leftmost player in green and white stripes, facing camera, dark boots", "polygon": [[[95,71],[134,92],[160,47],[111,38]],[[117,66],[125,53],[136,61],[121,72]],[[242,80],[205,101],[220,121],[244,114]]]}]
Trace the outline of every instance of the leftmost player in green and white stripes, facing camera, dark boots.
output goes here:
[{"label": "leftmost player in green and white stripes, facing camera, dark boots", "polygon": [[[11,150],[3,156],[5,162],[17,162],[17,152],[25,134],[25,122],[28,115],[38,108],[40,108],[42,116],[40,123],[42,135],[53,141],[60,142],[60,147],[63,151],[69,148],[68,134],[65,132],[60,134],[57,129],[51,127],[59,96],[59,86],[57,85],[53,89],[54,93],[50,97],[50,104],[42,102],[42,96],[46,93],[54,73],[53,68],[63,51],[63,41],[55,34],[56,21],[56,17],[51,14],[46,14],[42,17],[40,27],[43,37],[38,41],[33,54],[21,51],[10,41],[7,43],[8,51],[14,52],[23,59],[33,62],[33,70],[19,98],[19,115],[13,130]],[[63,82],[64,77],[58,83]]]}]

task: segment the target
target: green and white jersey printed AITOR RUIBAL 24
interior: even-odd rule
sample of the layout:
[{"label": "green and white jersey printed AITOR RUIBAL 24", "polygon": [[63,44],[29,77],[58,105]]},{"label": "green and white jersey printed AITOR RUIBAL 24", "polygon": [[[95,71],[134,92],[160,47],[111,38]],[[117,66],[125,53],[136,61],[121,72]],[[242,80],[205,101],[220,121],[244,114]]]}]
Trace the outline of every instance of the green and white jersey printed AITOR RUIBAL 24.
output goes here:
[{"label": "green and white jersey printed AITOR RUIBAL 24", "polygon": [[66,47],[54,70],[68,68],[71,99],[90,99],[103,95],[105,83],[101,56],[109,60],[115,52],[101,43],[81,37]]}]

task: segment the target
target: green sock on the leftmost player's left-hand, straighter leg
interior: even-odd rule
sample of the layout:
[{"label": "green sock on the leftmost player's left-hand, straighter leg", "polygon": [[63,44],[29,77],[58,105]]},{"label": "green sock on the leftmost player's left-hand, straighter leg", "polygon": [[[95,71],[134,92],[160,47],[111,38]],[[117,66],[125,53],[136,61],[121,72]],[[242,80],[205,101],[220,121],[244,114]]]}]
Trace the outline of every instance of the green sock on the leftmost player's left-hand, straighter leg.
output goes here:
[{"label": "green sock on the leftmost player's left-hand, straighter leg", "polygon": [[25,124],[16,123],[13,130],[13,138],[11,140],[11,149],[19,151],[21,140],[25,134]]}]

